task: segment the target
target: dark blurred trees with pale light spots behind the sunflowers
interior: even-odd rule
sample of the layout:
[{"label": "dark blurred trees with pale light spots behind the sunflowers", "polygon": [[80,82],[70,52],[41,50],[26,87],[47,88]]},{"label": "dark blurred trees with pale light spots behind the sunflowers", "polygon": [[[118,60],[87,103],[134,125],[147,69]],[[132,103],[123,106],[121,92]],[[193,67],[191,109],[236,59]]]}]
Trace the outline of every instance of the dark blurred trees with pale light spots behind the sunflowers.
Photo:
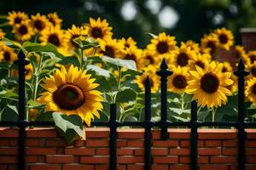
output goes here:
[{"label": "dark blurred trees with pale light spots behind the sunflowers", "polygon": [[[150,37],[145,32],[158,34],[166,31],[176,36],[178,42],[189,39],[199,42],[204,33],[225,26],[234,32],[236,44],[239,44],[239,29],[256,26],[254,0],[151,0],[160,4],[156,14],[145,5],[148,1],[1,0],[0,14],[7,14],[11,10],[21,10],[27,14],[36,14],[38,11],[48,14],[56,11],[65,20],[64,28],[88,22],[89,17],[102,17],[113,27],[114,37],[134,37],[141,48],[149,42]],[[134,20],[125,20],[121,14],[127,3],[132,3],[137,9]],[[171,7],[178,15],[177,23],[172,28],[163,28],[158,20],[158,14],[166,7]]]}]

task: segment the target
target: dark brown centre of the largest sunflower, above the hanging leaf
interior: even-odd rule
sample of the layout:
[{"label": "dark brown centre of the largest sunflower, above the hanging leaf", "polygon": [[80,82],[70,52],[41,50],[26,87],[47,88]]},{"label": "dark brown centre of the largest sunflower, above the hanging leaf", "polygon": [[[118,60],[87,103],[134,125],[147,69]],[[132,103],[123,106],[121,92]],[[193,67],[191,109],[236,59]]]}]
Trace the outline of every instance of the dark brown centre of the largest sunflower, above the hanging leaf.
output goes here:
[{"label": "dark brown centre of the largest sunflower, above the hanging leaf", "polygon": [[73,84],[62,84],[53,93],[53,99],[61,109],[67,111],[79,108],[85,101],[82,89]]}]

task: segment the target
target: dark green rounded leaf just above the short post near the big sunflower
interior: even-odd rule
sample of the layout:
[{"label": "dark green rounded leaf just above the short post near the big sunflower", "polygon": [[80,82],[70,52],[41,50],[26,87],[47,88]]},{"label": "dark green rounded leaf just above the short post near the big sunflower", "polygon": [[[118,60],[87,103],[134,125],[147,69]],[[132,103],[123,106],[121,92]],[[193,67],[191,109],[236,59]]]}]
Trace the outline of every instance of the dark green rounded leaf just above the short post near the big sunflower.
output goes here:
[{"label": "dark green rounded leaf just above the short post near the big sunflower", "polygon": [[137,93],[131,88],[121,88],[121,90],[116,94],[116,102],[125,103],[129,101],[134,101],[137,97]]}]

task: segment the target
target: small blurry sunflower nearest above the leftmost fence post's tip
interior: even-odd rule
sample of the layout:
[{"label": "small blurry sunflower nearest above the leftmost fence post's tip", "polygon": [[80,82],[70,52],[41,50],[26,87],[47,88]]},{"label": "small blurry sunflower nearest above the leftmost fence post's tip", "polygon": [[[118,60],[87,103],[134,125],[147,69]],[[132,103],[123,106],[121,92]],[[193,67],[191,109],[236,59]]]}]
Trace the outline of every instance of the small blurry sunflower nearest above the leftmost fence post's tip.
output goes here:
[{"label": "small blurry sunflower nearest above the leftmost fence post's tip", "polygon": [[15,25],[13,29],[13,33],[15,37],[20,41],[27,41],[30,40],[31,37],[34,35],[32,31],[32,27],[29,24],[29,20],[22,21],[19,25]]}]

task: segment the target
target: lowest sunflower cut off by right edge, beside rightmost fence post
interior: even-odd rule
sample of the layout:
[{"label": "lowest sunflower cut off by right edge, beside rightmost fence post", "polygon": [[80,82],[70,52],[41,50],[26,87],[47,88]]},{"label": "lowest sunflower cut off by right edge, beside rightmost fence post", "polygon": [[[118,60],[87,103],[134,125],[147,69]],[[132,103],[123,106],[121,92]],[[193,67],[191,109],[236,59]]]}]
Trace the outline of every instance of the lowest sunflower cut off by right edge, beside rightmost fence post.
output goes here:
[{"label": "lowest sunflower cut off by right edge, beside rightmost fence post", "polygon": [[249,101],[256,103],[256,77],[247,80],[245,95]]}]

